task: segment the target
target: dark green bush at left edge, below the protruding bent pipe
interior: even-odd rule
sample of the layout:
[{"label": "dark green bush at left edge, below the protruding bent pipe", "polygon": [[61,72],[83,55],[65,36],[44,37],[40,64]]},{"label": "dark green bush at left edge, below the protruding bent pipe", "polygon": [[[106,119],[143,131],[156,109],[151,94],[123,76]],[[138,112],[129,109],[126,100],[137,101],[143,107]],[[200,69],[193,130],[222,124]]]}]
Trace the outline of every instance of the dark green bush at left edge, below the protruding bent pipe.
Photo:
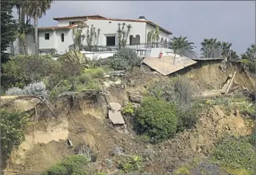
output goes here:
[{"label": "dark green bush at left edge, below the protruding bent pipe", "polygon": [[25,140],[22,129],[29,119],[25,112],[9,112],[3,108],[0,109],[0,115],[1,153],[6,158],[14,146],[17,148]]}]

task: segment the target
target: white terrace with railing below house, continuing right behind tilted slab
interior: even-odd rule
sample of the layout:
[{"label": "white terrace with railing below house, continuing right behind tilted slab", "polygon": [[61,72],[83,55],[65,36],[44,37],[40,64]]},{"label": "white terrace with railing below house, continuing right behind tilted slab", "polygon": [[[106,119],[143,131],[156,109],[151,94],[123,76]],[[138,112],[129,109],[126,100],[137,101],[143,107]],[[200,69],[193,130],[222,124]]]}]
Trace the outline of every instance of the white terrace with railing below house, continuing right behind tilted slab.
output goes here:
[{"label": "white terrace with railing below house, continuing right behind tilted slab", "polygon": [[[69,49],[74,48],[74,45],[69,45]],[[127,44],[127,45],[82,45],[81,52],[87,57],[98,56],[107,58],[112,56],[121,48],[130,48],[137,52],[138,56],[155,56],[158,57],[159,53],[175,54],[174,47],[171,42],[145,42],[140,44]],[[185,56],[194,60],[214,60],[223,59],[221,55],[221,48],[215,47],[208,52],[202,52],[199,48],[191,50],[190,48],[176,49],[176,55]]]}]

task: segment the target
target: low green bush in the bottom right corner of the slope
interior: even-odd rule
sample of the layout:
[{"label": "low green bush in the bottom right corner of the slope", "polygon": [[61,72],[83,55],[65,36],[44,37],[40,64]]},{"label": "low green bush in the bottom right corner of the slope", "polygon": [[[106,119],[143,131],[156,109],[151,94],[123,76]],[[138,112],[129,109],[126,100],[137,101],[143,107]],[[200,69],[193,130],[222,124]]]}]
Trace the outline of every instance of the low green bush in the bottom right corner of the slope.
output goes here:
[{"label": "low green bush in the bottom right corner of the slope", "polygon": [[214,148],[213,161],[226,170],[241,170],[245,171],[244,174],[252,174],[256,162],[254,147],[247,138],[227,136]]}]

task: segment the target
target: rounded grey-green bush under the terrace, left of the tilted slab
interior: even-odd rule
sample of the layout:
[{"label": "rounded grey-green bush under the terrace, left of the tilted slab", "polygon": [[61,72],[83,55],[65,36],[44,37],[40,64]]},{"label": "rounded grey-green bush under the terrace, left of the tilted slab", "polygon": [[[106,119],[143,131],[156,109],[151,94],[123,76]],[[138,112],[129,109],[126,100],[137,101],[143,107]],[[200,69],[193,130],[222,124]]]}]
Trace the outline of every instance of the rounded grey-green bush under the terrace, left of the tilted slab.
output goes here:
[{"label": "rounded grey-green bush under the terrace, left of the tilted slab", "polygon": [[111,60],[111,66],[114,70],[129,70],[139,63],[141,60],[137,53],[129,48],[121,48],[117,53],[114,53]]}]

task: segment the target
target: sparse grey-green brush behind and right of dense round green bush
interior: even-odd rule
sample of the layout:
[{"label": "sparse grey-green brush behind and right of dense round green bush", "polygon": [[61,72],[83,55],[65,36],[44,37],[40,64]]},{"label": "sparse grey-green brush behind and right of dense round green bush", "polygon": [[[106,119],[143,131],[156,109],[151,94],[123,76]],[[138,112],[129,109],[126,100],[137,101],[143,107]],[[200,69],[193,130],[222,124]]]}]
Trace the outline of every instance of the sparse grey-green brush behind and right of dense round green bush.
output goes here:
[{"label": "sparse grey-green brush behind and right of dense round green bush", "polygon": [[198,119],[198,113],[202,109],[202,103],[195,99],[197,89],[192,81],[187,78],[164,79],[151,84],[148,94],[156,98],[165,99],[167,102],[176,104],[178,109],[178,130],[192,128]]}]

